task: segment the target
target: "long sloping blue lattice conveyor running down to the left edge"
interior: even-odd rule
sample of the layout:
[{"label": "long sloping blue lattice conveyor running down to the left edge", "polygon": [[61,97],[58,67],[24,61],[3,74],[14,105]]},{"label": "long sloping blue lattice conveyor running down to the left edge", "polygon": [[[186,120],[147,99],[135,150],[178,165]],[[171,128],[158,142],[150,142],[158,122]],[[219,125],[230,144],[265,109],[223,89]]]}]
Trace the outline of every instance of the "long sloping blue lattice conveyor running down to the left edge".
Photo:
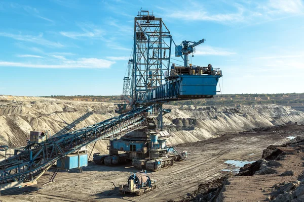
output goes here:
[{"label": "long sloping blue lattice conveyor running down to the left edge", "polygon": [[58,159],[73,151],[98,140],[121,136],[130,129],[142,127],[148,109],[149,107],[139,108],[80,130],[50,138],[46,142],[29,143],[23,148],[15,149],[14,156],[0,162],[0,183],[3,187],[0,189],[6,189],[10,183],[34,183]]}]

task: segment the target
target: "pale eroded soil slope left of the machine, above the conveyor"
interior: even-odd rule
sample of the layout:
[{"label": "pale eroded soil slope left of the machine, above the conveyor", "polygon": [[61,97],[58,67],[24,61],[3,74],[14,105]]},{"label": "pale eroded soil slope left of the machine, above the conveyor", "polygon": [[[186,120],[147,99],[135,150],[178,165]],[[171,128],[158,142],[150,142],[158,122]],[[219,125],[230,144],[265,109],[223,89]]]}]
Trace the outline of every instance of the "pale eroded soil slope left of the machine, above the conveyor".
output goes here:
[{"label": "pale eroded soil slope left of the machine, above the conveyor", "polygon": [[[26,144],[30,131],[50,130],[51,135],[59,135],[113,116],[113,103],[0,95],[0,144],[15,148]],[[99,141],[96,151],[106,152],[107,144]]]}]

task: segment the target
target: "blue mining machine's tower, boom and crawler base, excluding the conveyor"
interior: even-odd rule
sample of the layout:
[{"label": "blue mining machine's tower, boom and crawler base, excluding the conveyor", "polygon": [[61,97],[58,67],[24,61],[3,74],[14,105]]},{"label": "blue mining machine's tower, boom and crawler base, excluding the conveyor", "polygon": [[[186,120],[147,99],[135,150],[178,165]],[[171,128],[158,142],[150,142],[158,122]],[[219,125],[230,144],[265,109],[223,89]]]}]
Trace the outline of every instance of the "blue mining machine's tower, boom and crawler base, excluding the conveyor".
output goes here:
[{"label": "blue mining machine's tower, boom and crawler base, excluding the conveyor", "polygon": [[[132,161],[140,170],[156,171],[172,166],[174,161],[186,160],[187,152],[166,144],[170,134],[163,129],[163,115],[170,110],[163,104],[170,101],[211,98],[222,76],[219,69],[189,64],[189,55],[195,46],[205,39],[184,40],[176,45],[162,18],[149,11],[138,12],[134,18],[133,54],[128,61],[128,73],[124,77],[123,100],[118,113],[140,107],[149,107],[143,125],[119,139],[110,139],[109,155],[95,154],[93,160],[105,165]],[[175,56],[182,65],[171,61],[172,43]],[[171,65],[171,66],[170,66]],[[120,161],[121,159],[121,161]]]}]

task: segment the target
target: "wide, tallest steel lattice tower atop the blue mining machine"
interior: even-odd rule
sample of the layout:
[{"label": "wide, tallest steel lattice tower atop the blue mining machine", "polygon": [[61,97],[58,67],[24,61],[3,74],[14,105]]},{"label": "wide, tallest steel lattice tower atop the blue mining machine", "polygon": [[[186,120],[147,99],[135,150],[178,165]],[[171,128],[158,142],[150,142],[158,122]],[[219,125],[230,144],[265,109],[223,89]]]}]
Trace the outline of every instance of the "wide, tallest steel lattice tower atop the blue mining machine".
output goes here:
[{"label": "wide, tallest steel lattice tower atop the blue mining machine", "polygon": [[134,19],[133,71],[131,80],[133,102],[140,93],[165,83],[165,71],[169,71],[172,36],[162,21],[138,12]]}]

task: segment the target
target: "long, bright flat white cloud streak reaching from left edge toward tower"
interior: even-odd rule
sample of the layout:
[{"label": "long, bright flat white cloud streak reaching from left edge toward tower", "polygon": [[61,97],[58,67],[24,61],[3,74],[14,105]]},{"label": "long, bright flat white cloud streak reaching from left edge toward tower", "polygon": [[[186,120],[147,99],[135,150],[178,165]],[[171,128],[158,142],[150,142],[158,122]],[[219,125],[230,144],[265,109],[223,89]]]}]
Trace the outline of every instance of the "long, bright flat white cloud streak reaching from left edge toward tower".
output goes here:
[{"label": "long, bright flat white cloud streak reaching from left edge toward tower", "polygon": [[27,67],[27,68],[109,68],[115,64],[113,61],[97,58],[79,58],[78,60],[63,60],[60,64],[37,64],[0,61],[3,67]]}]

